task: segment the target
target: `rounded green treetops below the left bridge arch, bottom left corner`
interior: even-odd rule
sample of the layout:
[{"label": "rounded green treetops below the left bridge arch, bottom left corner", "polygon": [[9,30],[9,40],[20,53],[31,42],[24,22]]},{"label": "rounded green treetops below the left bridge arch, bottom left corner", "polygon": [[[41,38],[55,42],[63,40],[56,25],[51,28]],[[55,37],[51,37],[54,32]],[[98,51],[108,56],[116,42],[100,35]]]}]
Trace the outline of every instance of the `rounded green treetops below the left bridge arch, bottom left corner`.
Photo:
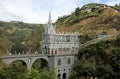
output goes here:
[{"label": "rounded green treetops below the left bridge arch, bottom left corner", "polygon": [[14,64],[0,69],[0,79],[23,79],[27,69],[21,64]]}]

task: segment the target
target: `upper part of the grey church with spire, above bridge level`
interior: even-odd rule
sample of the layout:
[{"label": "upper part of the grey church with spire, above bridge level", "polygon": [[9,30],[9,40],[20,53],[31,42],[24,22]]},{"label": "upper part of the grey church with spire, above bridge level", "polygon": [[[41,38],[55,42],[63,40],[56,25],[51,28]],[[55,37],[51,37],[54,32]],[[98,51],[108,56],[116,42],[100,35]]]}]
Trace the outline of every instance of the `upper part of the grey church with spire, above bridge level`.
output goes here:
[{"label": "upper part of the grey church with spire, above bridge level", "polygon": [[79,49],[79,33],[56,33],[51,14],[43,35],[43,52],[49,55],[75,54]]}]

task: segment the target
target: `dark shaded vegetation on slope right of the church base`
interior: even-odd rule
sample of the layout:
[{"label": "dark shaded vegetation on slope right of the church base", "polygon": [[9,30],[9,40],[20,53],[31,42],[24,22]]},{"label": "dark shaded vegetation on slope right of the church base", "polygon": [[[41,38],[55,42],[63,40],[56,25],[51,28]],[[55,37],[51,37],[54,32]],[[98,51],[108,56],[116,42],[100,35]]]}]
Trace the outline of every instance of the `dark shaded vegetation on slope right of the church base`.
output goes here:
[{"label": "dark shaded vegetation on slope right of the church base", "polygon": [[120,78],[120,36],[80,49],[79,60],[70,79],[90,78]]}]

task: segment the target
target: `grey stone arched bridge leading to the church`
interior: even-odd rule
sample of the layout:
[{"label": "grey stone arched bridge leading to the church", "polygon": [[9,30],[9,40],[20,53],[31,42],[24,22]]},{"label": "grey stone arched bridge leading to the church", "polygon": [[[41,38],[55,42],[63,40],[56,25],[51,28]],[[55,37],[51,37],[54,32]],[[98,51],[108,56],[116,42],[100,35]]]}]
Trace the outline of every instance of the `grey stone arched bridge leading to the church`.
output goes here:
[{"label": "grey stone arched bridge leading to the church", "polygon": [[14,54],[2,56],[2,61],[6,64],[11,64],[15,61],[22,61],[26,64],[28,70],[31,70],[33,63],[38,59],[40,59],[41,62],[46,63],[48,68],[52,67],[52,64],[50,63],[51,58],[47,54]]}]

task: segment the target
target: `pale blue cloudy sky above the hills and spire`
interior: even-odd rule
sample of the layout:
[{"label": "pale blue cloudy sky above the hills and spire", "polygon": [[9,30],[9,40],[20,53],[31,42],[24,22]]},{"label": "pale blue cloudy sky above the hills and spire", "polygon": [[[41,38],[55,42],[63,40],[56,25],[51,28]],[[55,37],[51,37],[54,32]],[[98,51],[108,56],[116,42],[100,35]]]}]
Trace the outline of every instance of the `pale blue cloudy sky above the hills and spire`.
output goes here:
[{"label": "pale blue cloudy sky above the hills and spire", "polygon": [[58,17],[69,15],[88,3],[114,6],[120,0],[0,0],[0,21],[47,23],[50,12],[55,22]]}]

